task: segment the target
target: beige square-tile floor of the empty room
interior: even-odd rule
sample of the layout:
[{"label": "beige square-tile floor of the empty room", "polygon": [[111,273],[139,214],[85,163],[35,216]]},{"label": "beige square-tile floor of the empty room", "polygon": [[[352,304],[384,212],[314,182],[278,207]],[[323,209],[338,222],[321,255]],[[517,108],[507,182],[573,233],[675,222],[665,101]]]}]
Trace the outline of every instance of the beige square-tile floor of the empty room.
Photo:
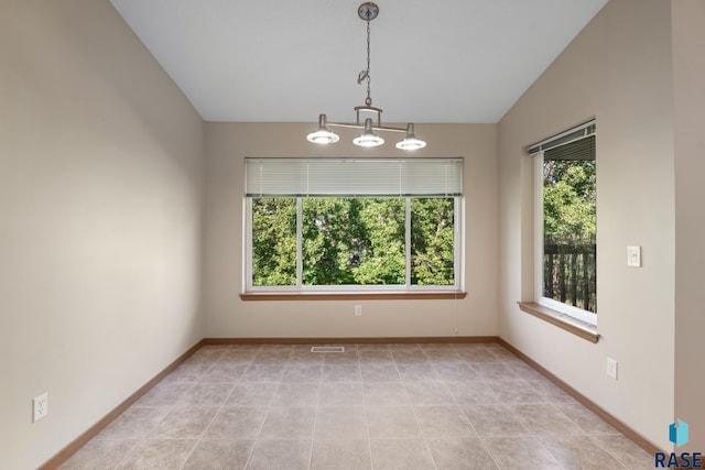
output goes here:
[{"label": "beige square-tile floor of the empty room", "polygon": [[496,343],[205,346],[62,469],[648,469]]}]

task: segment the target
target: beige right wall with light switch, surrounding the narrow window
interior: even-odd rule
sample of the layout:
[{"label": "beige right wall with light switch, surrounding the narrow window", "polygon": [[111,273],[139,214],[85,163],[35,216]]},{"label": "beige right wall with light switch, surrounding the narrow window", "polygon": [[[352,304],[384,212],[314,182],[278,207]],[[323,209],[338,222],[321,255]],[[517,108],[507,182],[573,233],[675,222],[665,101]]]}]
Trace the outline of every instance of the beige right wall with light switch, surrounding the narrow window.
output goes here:
[{"label": "beige right wall with light switch, surrounding the narrow window", "polygon": [[[674,417],[671,58],[670,2],[610,1],[505,116],[499,145],[500,335],[661,448]],[[532,161],[522,147],[590,117],[597,345],[516,305],[533,299]],[[632,244],[642,247],[641,269],[626,265]],[[617,381],[607,357],[619,361]]]}]

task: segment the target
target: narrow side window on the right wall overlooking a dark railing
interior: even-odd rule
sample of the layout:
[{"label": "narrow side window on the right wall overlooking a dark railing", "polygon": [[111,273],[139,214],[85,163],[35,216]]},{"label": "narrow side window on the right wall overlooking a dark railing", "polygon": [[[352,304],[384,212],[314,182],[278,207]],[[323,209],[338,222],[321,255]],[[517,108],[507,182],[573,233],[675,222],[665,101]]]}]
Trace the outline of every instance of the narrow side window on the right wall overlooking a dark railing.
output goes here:
[{"label": "narrow side window on the right wall overlooking a dark railing", "polygon": [[597,324],[595,121],[530,146],[539,304]]}]

